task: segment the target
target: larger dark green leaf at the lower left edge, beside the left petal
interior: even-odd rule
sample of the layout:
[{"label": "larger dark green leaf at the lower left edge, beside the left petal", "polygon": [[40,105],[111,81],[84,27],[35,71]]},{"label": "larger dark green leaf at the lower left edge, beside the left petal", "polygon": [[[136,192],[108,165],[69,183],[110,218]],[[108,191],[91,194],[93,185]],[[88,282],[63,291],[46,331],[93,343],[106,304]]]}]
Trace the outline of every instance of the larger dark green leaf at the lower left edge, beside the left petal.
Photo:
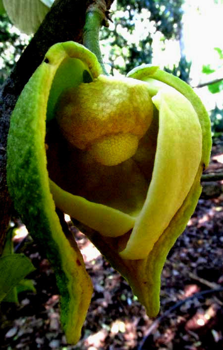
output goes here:
[{"label": "larger dark green leaf at the lower left edge, beside the left petal", "polygon": [[34,270],[31,261],[23,254],[10,254],[0,258],[0,301]]}]

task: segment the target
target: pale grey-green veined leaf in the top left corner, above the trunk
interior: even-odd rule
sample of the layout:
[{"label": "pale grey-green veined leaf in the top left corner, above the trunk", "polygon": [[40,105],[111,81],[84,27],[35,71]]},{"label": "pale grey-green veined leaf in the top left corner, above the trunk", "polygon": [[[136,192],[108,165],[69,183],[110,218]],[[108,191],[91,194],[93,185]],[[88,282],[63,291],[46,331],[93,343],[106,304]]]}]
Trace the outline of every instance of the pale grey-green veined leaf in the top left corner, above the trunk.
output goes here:
[{"label": "pale grey-green veined leaf in the top left corner, above the trunk", "polygon": [[12,23],[26,34],[36,32],[49,11],[40,0],[3,0],[3,5]]}]

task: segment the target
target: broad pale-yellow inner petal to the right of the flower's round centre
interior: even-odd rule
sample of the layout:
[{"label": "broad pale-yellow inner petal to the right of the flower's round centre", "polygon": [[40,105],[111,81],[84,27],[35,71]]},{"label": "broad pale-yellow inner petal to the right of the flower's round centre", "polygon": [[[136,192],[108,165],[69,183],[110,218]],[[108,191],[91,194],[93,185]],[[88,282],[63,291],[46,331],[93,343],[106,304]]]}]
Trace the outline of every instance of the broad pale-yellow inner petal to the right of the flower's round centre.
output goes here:
[{"label": "broad pale-yellow inner petal to the right of the flower's round centre", "polygon": [[153,102],[159,110],[159,133],[153,176],[146,201],[120,256],[144,259],[181,207],[201,160],[202,132],[191,103],[171,87]]}]

